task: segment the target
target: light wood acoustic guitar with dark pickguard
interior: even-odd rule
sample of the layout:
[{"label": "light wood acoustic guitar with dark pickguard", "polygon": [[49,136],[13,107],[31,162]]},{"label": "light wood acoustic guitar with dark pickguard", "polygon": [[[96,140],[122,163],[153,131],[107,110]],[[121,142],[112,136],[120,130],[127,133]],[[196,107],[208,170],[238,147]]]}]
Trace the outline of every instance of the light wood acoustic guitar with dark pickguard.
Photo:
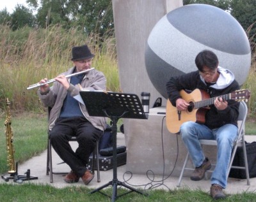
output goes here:
[{"label": "light wood acoustic guitar with dark pickguard", "polygon": [[[214,104],[214,100],[216,99],[216,97],[210,98],[207,92],[200,89],[195,89],[190,93],[180,90],[180,96],[189,103],[187,110],[179,111],[172,105],[169,99],[167,100],[166,126],[170,133],[179,133],[181,124],[189,120],[204,124],[205,113],[209,110],[209,106]],[[247,101],[250,97],[250,91],[247,89],[236,90],[218,97],[222,97],[224,100]]]}]

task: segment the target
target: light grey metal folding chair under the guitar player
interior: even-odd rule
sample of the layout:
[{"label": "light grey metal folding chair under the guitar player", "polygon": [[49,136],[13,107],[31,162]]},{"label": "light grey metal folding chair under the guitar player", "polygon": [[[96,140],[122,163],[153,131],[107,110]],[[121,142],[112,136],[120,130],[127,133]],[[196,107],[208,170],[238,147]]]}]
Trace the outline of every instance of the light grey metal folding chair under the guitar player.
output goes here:
[{"label": "light grey metal folding chair under the guitar player", "polygon": [[[234,143],[233,143],[232,154],[231,154],[230,162],[229,162],[229,166],[228,166],[228,173],[230,172],[231,168],[237,168],[237,169],[245,170],[247,185],[250,185],[250,177],[249,177],[249,171],[248,171],[248,161],[247,161],[246,147],[245,147],[245,141],[244,141],[244,126],[245,126],[245,120],[246,120],[247,112],[248,112],[248,108],[247,108],[246,103],[244,103],[244,101],[241,101],[240,105],[239,105],[239,117],[238,117],[238,120],[237,120],[237,124],[238,124],[238,132],[237,133],[238,134],[237,134],[236,141],[234,141]],[[216,140],[200,140],[200,143],[201,143],[201,145],[215,145],[215,146],[217,146],[217,141]],[[234,160],[234,157],[235,157],[235,154],[236,154],[237,147],[243,147],[244,166],[232,166],[232,163],[233,163],[233,160]],[[182,171],[180,173],[180,177],[179,177],[177,187],[180,187],[180,182],[182,180],[184,170],[194,170],[195,169],[195,168],[186,167],[187,164],[188,164],[188,159],[189,159],[189,152],[186,155],[186,159],[184,161]],[[212,164],[212,166],[214,167],[215,164]],[[212,172],[212,170],[209,170],[207,172]],[[205,178],[207,178],[207,172],[205,173]]]}]

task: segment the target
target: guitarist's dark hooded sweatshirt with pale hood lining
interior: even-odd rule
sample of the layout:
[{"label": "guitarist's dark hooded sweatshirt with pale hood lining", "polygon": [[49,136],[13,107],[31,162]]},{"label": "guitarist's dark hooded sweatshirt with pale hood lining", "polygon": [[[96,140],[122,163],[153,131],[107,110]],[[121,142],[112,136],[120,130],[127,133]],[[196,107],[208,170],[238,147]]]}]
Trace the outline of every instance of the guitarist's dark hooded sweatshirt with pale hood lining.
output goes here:
[{"label": "guitarist's dark hooded sweatshirt with pale hood lining", "polygon": [[[219,97],[239,89],[239,84],[234,78],[234,74],[228,69],[218,67],[220,76],[216,83],[205,83],[199,71],[193,71],[181,76],[172,77],[166,83],[168,99],[172,105],[176,105],[176,100],[180,97],[180,90],[193,91],[195,89],[205,90],[210,97]],[[205,114],[205,126],[210,129],[221,127],[225,124],[237,126],[239,113],[239,103],[233,99],[228,99],[228,107],[225,110],[217,110],[214,105]]]}]

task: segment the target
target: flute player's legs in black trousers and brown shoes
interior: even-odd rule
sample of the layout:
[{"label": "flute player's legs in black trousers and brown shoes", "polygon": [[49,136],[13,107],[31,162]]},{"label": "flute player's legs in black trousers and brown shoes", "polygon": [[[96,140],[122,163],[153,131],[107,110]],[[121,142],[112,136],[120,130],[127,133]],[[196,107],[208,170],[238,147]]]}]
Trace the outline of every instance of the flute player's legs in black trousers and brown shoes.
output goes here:
[{"label": "flute player's legs in black trousers and brown shoes", "polygon": [[[84,184],[87,185],[92,181],[94,175],[87,170],[86,164],[95,147],[98,136],[100,137],[102,133],[89,122],[84,122],[83,120],[82,126],[86,125],[86,129],[84,126],[81,127],[81,124],[78,124],[79,122],[81,123],[80,119],[75,121],[73,119],[58,119],[50,132],[50,138],[56,153],[71,168],[70,173],[64,178],[65,182],[78,182],[81,177]],[[86,133],[83,131],[86,131]],[[68,143],[72,136],[77,136],[79,147],[76,152],[72,150]]]}]

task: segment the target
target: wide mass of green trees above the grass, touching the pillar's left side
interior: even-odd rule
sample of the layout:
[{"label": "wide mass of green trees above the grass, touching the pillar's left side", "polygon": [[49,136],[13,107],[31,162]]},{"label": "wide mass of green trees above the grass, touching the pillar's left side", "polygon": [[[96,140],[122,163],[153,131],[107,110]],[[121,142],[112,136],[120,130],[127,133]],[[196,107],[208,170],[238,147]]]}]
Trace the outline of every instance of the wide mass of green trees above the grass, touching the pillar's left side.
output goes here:
[{"label": "wide mass of green trees above the grass, touching the pillar's left side", "polygon": [[41,27],[61,24],[66,28],[81,27],[85,32],[103,35],[113,34],[113,11],[111,0],[27,0],[38,13]]}]

